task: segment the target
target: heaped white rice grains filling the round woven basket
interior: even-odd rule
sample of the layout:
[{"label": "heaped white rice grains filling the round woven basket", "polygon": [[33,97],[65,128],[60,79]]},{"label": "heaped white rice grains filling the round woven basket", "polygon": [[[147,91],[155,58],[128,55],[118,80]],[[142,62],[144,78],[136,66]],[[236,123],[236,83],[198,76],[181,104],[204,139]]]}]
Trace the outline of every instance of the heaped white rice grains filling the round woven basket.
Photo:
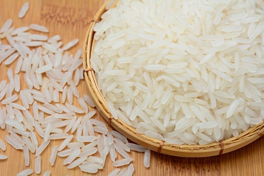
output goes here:
[{"label": "heaped white rice grains filling the round woven basket", "polygon": [[93,69],[115,118],[172,144],[264,118],[264,2],[120,0],[96,24]]}]

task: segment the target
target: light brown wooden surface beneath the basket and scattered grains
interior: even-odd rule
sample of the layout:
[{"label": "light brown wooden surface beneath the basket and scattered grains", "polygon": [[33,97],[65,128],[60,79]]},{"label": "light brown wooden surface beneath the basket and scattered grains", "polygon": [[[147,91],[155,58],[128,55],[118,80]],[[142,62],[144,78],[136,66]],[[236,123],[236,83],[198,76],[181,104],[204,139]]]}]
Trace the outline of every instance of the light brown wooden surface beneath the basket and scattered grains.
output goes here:
[{"label": "light brown wooden surface beneath the basket and scattered grains", "polygon": [[[59,34],[64,44],[78,38],[78,45],[70,50],[74,54],[78,48],[82,48],[89,22],[104,3],[104,0],[31,0],[28,1],[30,9],[26,17],[18,19],[19,10],[24,2],[26,1],[0,0],[0,27],[9,18],[14,20],[13,27],[26,26],[32,23],[44,25],[50,31],[48,34],[50,37]],[[14,69],[14,66],[15,64],[12,64],[9,67]],[[0,80],[7,79],[7,69],[8,67],[3,63],[0,65]],[[25,87],[23,81],[21,86]],[[86,94],[84,81],[80,82],[78,90],[81,94]],[[103,121],[99,114],[96,118]],[[2,140],[6,134],[6,130],[0,129]],[[81,172],[79,168],[67,169],[62,164],[64,158],[57,157],[55,165],[50,166],[51,148],[54,145],[59,145],[61,141],[52,141],[48,149],[41,154],[42,171],[39,175],[42,175],[46,170],[51,170],[51,175],[90,175]],[[41,140],[39,140],[40,142]],[[7,150],[3,152],[0,149],[0,154],[6,154],[9,158],[0,160],[1,176],[16,175],[26,168],[34,169],[34,154],[30,154],[30,165],[26,167],[23,152],[15,150],[6,142],[5,144]],[[152,152],[149,168],[143,167],[143,153],[131,152],[130,156],[134,158],[134,175],[264,175],[263,137],[239,150],[215,157],[181,158]],[[119,156],[119,158],[121,157]],[[115,167],[112,166],[112,161],[108,156],[104,169],[94,175],[107,175],[114,169]]]}]

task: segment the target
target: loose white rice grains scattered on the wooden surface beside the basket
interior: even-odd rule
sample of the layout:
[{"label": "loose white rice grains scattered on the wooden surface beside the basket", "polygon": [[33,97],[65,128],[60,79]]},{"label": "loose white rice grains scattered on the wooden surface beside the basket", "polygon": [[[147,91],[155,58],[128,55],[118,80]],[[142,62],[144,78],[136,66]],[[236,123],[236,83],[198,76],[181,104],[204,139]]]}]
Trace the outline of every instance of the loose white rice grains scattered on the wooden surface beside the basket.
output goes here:
[{"label": "loose white rice grains scattered on the wooden surface beside the basket", "polygon": [[[25,3],[18,18],[23,20],[28,10]],[[0,66],[8,71],[1,73],[7,79],[0,80],[0,127],[8,134],[0,139],[0,161],[8,159],[6,151],[20,150],[24,158],[19,162],[24,160],[27,169],[18,176],[48,176],[51,171],[43,170],[43,164],[51,168],[57,156],[68,169],[89,173],[97,173],[111,159],[114,167],[124,167],[109,175],[129,176],[134,172],[133,150],[144,153],[144,166],[149,167],[150,150],[96,120],[94,102],[80,94],[82,51],[69,52],[78,39],[63,44],[59,35],[49,37],[44,26],[15,28],[12,19],[5,20],[0,21]],[[54,140],[61,142],[57,146]],[[49,156],[43,156],[47,148]]]}]

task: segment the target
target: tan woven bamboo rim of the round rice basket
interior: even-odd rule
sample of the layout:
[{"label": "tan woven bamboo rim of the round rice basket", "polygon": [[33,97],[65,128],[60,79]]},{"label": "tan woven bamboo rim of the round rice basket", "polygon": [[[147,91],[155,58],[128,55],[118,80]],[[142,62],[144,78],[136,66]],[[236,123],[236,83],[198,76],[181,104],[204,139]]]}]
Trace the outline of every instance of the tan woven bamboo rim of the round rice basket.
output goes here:
[{"label": "tan woven bamboo rim of the round rice basket", "polygon": [[104,119],[118,132],[133,142],[145,146],[153,151],[181,157],[207,157],[221,155],[239,149],[264,135],[264,123],[262,122],[261,124],[255,125],[254,127],[251,127],[247,131],[241,133],[238,137],[232,137],[220,142],[214,142],[207,145],[174,145],[139,134],[134,128],[128,126],[120,119],[114,119],[107,107],[107,103],[103,95],[99,90],[95,72],[90,62],[95,44],[95,32],[93,29],[95,24],[101,20],[101,16],[106,12],[106,5],[107,3],[105,3],[97,12],[86,33],[83,50],[83,75],[85,82],[87,83],[90,96],[94,100],[97,109]]}]

